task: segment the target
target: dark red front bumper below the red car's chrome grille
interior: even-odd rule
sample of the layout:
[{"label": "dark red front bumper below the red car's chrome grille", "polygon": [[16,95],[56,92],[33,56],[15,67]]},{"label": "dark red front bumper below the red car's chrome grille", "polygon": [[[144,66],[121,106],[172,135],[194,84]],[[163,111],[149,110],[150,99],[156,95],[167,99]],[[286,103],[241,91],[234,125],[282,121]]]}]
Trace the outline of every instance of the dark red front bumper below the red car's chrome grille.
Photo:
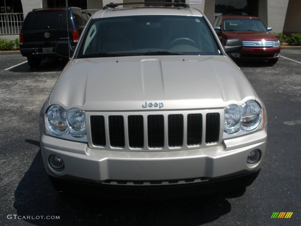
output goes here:
[{"label": "dark red front bumper below the red car's chrome grille", "polygon": [[266,47],[266,48],[253,48],[243,47],[237,54],[231,54],[235,59],[251,59],[251,60],[268,60],[278,58],[280,54],[280,47]]}]

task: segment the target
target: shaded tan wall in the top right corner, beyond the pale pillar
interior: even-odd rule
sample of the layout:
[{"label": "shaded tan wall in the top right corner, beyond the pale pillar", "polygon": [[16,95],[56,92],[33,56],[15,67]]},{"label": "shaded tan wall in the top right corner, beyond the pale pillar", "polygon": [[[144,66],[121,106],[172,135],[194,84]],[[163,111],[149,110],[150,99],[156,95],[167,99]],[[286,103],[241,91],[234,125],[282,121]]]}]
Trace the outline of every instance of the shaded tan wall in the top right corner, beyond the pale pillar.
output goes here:
[{"label": "shaded tan wall in the top right corner, beyond the pale pillar", "polygon": [[301,33],[301,0],[289,0],[283,32]]}]

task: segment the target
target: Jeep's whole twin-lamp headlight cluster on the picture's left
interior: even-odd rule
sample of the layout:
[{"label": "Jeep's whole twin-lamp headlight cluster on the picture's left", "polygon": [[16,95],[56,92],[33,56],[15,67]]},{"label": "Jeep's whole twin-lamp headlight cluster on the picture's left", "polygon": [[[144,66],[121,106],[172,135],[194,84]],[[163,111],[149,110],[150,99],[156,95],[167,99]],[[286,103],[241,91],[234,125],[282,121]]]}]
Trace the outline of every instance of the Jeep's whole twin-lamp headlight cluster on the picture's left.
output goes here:
[{"label": "Jeep's whole twin-lamp headlight cluster on the picture's left", "polygon": [[45,125],[54,135],[68,139],[86,136],[85,112],[79,108],[70,110],[62,106],[51,105],[45,114]]}]

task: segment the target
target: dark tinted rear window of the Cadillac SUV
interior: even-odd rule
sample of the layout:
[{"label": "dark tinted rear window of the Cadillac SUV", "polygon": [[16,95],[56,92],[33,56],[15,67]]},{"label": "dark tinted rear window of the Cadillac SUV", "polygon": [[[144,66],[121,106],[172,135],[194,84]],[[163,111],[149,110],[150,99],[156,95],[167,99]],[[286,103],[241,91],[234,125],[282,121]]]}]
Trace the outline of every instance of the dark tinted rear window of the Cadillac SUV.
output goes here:
[{"label": "dark tinted rear window of the Cadillac SUV", "polygon": [[[70,12],[68,12],[68,26],[72,27]],[[23,29],[44,29],[44,28],[66,28],[66,11],[39,11],[27,14]]]}]

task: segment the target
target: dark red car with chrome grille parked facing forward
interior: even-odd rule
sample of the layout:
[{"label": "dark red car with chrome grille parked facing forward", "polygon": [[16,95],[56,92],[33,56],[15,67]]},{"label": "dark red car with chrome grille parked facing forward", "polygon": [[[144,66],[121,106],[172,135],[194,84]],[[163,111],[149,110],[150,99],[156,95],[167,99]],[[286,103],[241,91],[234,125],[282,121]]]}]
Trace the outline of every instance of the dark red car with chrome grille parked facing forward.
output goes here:
[{"label": "dark red car with chrome grille parked facing forward", "polygon": [[268,60],[275,64],[280,55],[279,39],[270,33],[272,27],[265,27],[258,17],[248,15],[223,15],[213,22],[222,44],[228,38],[240,38],[244,48],[230,56],[239,59]]}]

